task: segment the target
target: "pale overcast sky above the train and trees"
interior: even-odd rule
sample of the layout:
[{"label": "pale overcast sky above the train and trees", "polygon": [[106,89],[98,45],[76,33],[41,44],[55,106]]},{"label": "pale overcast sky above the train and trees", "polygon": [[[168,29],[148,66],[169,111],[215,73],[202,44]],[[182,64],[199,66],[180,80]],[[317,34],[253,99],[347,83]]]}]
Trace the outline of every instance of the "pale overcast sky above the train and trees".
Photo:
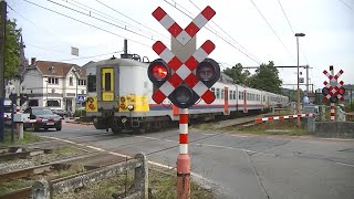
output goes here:
[{"label": "pale overcast sky above the train and trees", "polygon": [[[22,29],[25,56],[83,65],[128,52],[158,59],[156,41],[170,45],[170,34],[152,15],[162,7],[180,27],[210,6],[216,15],[197,33],[197,48],[216,44],[209,57],[221,70],[236,63],[258,66],[310,65],[309,78],[322,88],[330,65],[345,84],[354,84],[354,0],[7,0],[8,18]],[[35,4],[33,4],[35,3]],[[61,4],[61,6],[60,6]],[[42,8],[41,8],[42,7]],[[52,11],[45,10],[50,9]],[[76,11],[75,11],[76,10]],[[56,13],[55,13],[56,12]],[[64,14],[66,17],[63,17]],[[67,18],[69,17],[69,18]],[[100,20],[97,20],[100,19]],[[81,22],[79,22],[79,21]],[[85,23],[85,24],[84,24]],[[71,46],[79,56],[71,55]],[[279,69],[283,87],[296,88],[296,67]],[[254,73],[254,70],[250,70]],[[300,69],[301,77],[306,71]],[[301,85],[305,90],[304,85]]]}]

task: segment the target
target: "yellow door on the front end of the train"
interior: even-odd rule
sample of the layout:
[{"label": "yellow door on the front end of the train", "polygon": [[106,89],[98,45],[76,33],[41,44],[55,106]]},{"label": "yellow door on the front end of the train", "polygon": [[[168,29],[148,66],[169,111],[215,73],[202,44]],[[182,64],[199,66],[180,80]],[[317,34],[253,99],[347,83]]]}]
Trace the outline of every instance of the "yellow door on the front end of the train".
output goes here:
[{"label": "yellow door on the front end of the train", "polygon": [[101,69],[102,74],[102,101],[112,102],[114,101],[114,71],[113,67]]}]

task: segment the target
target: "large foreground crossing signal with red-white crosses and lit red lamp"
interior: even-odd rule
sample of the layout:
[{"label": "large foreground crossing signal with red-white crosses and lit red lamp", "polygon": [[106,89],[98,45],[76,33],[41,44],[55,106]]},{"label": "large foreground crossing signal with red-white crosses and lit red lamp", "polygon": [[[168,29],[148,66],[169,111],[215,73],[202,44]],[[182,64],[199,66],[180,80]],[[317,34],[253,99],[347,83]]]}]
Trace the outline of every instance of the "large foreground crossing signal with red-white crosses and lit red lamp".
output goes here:
[{"label": "large foreground crossing signal with red-white crosses and lit red lamp", "polygon": [[[183,45],[186,45],[215,14],[216,12],[207,7],[186,29],[181,29],[160,7],[153,12],[155,19]],[[209,88],[219,80],[220,66],[216,61],[207,59],[215,50],[210,40],[186,62],[181,62],[160,41],[153,45],[153,50],[162,57],[152,62],[147,72],[156,87],[153,100],[157,104],[168,97],[177,107],[188,108],[199,98],[207,104],[215,101],[215,95]]]}]

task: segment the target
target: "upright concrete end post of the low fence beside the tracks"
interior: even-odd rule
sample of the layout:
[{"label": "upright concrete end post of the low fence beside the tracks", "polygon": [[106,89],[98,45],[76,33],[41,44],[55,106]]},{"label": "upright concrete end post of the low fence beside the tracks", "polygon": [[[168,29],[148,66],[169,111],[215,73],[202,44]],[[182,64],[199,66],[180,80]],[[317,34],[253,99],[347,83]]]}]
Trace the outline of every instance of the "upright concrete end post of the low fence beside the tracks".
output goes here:
[{"label": "upright concrete end post of the low fence beside the tracks", "polygon": [[137,154],[134,157],[142,161],[140,167],[135,168],[133,191],[142,191],[140,198],[148,199],[148,165],[145,154]]}]

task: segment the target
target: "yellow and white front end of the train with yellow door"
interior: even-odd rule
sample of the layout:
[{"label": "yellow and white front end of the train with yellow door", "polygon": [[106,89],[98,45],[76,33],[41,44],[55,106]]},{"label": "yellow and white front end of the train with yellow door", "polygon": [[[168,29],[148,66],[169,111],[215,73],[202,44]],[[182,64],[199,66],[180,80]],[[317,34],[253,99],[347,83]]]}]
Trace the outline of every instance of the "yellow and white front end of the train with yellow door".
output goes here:
[{"label": "yellow and white front end of the train with yellow door", "polygon": [[110,59],[87,66],[86,116],[97,129],[150,128],[145,119],[153,92],[147,67],[147,63],[132,59]]}]

